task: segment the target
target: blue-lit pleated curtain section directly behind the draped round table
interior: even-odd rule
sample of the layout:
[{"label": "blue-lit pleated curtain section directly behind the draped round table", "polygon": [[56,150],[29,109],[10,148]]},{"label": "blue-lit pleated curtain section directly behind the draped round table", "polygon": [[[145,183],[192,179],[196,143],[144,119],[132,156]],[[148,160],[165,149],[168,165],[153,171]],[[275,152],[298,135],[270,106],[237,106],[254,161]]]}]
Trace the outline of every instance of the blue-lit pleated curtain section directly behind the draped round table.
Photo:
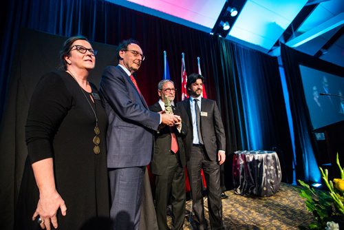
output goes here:
[{"label": "blue-lit pleated curtain section directly behind the draped round table", "polygon": [[[273,149],[281,161],[283,181],[291,183],[292,145],[277,59],[223,39],[213,44],[217,52],[211,74],[216,76],[227,151]],[[225,163],[226,175],[231,160],[233,156]]]}]

